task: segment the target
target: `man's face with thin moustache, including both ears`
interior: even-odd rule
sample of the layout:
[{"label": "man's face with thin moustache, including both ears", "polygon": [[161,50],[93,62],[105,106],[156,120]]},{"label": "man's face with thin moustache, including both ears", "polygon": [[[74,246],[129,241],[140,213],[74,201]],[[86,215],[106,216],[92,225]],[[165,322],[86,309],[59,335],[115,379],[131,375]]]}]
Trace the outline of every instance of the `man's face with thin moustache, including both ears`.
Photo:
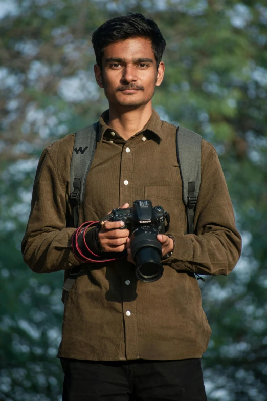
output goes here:
[{"label": "man's face with thin moustache, including both ears", "polygon": [[164,64],[157,71],[151,41],[136,37],[107,46],[102,57],[102,71],[95,65],[98,85],[104,88],[109,104],[138,107],[147,104],[155,86],[163,80]]}]

